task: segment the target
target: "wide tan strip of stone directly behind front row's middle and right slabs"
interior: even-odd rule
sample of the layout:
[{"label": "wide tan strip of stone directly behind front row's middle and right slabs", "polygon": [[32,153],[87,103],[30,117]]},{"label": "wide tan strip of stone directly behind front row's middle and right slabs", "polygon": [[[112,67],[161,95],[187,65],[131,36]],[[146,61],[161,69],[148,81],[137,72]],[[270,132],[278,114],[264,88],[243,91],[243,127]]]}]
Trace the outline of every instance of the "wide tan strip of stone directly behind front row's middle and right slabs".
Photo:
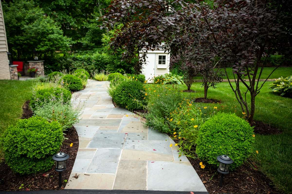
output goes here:
[{"label": "wide tan strip of stone directly behind front row's middle and right slabs", "polygon": [[172,154],[161,154],[142,150],[123,149],[121,160],[160,160],[173,161]]}]

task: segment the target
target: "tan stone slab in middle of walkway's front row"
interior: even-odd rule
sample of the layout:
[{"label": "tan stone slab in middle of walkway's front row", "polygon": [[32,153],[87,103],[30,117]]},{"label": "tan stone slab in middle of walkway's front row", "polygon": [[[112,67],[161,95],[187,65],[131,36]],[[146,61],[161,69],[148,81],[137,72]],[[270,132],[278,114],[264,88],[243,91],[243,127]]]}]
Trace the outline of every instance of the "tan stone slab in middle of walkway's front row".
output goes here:
[{"label": "tan stone slab in middle of walkway's front row", "polygon": [[113,189],[146,190],[147,161],[120,160]]}]

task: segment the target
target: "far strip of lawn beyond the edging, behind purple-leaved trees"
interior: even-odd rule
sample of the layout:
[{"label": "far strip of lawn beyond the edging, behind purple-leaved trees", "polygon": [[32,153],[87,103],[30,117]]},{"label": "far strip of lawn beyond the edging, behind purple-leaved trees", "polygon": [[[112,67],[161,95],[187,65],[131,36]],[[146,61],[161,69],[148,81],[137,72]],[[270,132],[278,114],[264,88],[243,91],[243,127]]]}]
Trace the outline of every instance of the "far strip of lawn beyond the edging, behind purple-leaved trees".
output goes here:
[{"label": "far strip of lawn beyond the edging, behind purple-leaved trees", "polygon": [[[267,79],[267,76],[270,75],[270,73],[274,70],[275,67],[265,67],[263,69],[263,73],[260,76],[260,79]],[[220,70],[221,71],[221,70]],[[233,78],[233,73],[232,73],[232,68],[226,68],[227,74],[229,78]],[[222,70],[223,72],[223,79],[227,79],[224,70]],[[288,77],[292,75],[292,67],[278,67],[278,69],[276,69],[273,74],[270,76],[269,79],[278,79],[279,77],[283,76]],[[201,79],[201,77],[197,76],[194,79]]]}]

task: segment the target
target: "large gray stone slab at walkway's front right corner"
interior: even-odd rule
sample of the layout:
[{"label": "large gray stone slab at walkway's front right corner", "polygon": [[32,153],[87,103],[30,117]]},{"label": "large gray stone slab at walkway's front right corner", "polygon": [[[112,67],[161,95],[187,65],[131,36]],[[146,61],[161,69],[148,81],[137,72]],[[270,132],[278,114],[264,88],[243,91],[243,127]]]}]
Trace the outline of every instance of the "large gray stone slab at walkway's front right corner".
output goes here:
[{"label": "large gray stone slab at walkway's front right corner", "polygon": [[207,191],[190,162],[147,162],[147,187],[150,191]]}]

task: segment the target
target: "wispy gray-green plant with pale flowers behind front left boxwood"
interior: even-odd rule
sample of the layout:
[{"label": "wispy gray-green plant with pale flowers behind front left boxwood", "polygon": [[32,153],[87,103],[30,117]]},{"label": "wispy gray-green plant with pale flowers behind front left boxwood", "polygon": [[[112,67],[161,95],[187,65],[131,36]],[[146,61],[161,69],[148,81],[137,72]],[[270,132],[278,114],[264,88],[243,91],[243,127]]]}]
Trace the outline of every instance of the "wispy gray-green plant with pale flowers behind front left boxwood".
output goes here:
[{"label": "wispy gray-green plant with pale flowers behind front left boxwood", "polygon": [[75,106],[75,104],[71,103],[50,101],[43,106],[36,107],[34,115],[45,118],[49,122],[58,121],[62,129],[66,130],[79,122],[82,108],[80,104]]}]

